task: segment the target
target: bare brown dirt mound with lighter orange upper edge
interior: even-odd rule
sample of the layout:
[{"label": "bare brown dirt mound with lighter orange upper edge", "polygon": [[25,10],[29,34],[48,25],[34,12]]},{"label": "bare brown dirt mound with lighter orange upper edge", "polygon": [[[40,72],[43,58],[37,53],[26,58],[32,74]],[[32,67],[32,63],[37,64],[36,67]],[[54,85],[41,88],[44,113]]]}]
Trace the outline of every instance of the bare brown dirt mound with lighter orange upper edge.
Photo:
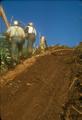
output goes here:
[{"label": "bare brown dirt mound with lighter orange upper edge", "polygon": [[50,49],[2,76],[2,120],[60,120],[73,79],[74,63],[67,58],[73,55],[73,49]]}]

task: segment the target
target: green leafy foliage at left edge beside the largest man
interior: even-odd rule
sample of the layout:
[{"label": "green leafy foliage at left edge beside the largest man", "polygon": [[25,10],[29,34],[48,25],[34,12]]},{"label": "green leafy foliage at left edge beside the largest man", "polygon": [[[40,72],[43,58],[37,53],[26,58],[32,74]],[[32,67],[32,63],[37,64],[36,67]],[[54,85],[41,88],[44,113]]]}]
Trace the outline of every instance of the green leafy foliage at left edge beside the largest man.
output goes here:
[{"label": "green leafy foliage at left edge beside the largest man", "polygon": [[10,44],[7,40],[0,40],[0,71],[6,72],[12,65]]}]

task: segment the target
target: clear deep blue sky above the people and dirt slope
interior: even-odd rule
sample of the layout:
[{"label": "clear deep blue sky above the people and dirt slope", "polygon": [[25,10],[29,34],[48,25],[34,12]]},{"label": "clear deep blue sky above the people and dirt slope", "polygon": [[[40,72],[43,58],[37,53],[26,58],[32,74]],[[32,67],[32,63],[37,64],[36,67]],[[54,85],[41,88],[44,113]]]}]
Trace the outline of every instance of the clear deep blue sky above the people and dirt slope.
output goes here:
[{"label": "clear deep blue sky above the people and dirt slope", "polygon": [[[2,0],[8,21],[21,21],[25,26],[33,22],[37,30],[36,44],[40,35],[48,45],[76,46],[82,41],[81,0]],[[3,31],[5,24],[0,19]]]}]

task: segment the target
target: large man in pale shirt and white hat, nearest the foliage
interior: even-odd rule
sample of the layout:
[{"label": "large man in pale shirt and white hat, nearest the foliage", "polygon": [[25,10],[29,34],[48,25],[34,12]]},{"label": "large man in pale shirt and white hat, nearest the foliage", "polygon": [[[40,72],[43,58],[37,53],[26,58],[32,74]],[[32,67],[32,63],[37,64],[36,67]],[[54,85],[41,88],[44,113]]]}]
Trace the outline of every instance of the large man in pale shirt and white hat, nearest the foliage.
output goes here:
[{"label": "large man in pale shirt and white hat, nearest the foliage", "polygon": [[11,54],[15,61],[18,61],[22,56],[23,44],[25,41],[25,32],[22,27],[19,26],[18,21],[14,21],[13,26],[10,26],[6,32],[11,44]]}]

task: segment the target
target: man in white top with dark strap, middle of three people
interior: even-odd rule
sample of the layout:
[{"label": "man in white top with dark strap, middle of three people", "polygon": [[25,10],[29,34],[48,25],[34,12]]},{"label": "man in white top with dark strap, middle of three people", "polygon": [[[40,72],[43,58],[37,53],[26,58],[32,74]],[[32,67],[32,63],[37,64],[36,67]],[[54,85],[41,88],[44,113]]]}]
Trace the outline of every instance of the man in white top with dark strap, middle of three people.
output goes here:
[{"label": "man in white top with dark strap, middle of three people", "polygon": [[33,44],[36,40],[36,29],[34,28],[34,25],[32,22],[28,23],[28,25],[25,27],[25,33],[26,33],[26,39],[28,40],[27,43],[27,49],[28,53],[31,54],[33,52]]}]

